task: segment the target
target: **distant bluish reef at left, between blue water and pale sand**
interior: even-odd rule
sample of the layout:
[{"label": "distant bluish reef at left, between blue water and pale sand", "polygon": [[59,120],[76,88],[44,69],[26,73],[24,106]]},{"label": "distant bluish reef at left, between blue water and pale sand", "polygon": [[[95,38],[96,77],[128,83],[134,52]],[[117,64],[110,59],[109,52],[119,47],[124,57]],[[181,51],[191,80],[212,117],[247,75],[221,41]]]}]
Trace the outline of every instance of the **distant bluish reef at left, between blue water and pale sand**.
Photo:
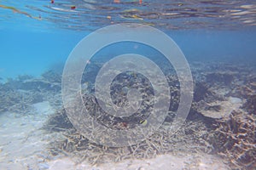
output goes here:
[{"label": "distant bluish reef at left, between blue water and pale sand", "polygon": [[[31,109],[32,104],[43,100],[49,100],[53,105],[61,105],[61,98],[55,97],[61,95],[61,83],[54,82],[48,72],[44,74],[43,78],[22,75],[0,83],[0,112],[26,113]],[[54,80],[59,81],[60,79],[61,76]]]}]

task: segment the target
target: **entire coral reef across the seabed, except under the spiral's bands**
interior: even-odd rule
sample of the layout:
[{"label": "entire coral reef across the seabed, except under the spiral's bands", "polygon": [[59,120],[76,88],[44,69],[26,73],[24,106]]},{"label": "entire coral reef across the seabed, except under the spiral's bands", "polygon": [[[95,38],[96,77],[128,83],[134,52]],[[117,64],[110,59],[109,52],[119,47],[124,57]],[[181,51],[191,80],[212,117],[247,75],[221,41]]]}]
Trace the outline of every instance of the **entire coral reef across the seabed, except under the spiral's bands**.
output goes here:
[{"label": "entire coral reef across the seabed, except under the spiral's bands", "polygon": [[[49,144],[49,153],[51,157],[73,157],[77,163],[85,160],[91,164],[101,164],[129,158],[151,158],[166,153],[206,152],[223,156],[233,169],[255,168],[255,75],[249,68],[234,65],[196,65],[197,68],[192,68],[195,77],[194,101],[183,126],[175,134],[169,131],[173,117],[176,116],[180,95],[177,76],[169,74],[166,80],[170,86],[172,102],[165,122],[153,135],[131,146],[106,147],[79,133],[68,119],[66,111],[61,108],[61,75],[52,70],[46,71],[40,78],[23,75],[1,82],[0,112],[25,113],[31,109],[32,104],[48,100],[58,111],[49,116],[44,130],[61,135],[61,139],[53,139]],[[114,105],[127,105],[128,88],[139,89],[144,103],[142,109],[131,117],[106,116],[93,95],[96,71],[101,66],[101,63],[92,62],[82,78],[84,106],[90,111],[90,116],[113,129],[140,126],[151,111],[154,97],[152,85],[143,75],[129,71],[119,74],[110,88]],[[201,71],[204,73],[201,74]],[[143,111],[147,113],[143,114]],[[93,131],[97,133],[97,129]]]}]

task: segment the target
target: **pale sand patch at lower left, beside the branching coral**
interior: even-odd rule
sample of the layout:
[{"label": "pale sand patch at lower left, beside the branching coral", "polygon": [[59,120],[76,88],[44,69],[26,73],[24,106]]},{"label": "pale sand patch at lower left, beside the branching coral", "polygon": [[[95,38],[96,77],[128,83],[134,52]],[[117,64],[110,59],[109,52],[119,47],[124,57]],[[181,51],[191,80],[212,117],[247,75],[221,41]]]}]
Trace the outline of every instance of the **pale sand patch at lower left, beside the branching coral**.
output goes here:
[{"label": "pale sand patch at lower left, beside the branching coral", "polygon": [[54,113],[49,102],[33,105],[26,115],[12,112],[0,115],[0,169],[38,169],[47,156],[50,135],[40,128]]}]

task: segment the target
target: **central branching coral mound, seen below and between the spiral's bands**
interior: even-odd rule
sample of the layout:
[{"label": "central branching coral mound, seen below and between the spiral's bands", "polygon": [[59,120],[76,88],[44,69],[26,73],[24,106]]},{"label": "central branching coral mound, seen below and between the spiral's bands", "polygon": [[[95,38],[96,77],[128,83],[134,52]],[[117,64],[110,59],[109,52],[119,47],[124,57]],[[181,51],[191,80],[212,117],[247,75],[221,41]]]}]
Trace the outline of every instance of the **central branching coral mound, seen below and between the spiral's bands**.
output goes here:
[{"label": "central branching coral mound, seen below and between the spiral's bands", "polygon": [[[74,127],[71,126],[66,111],[61,110],[56,112],[54,116],[51,116],[49,122],[44,126],[47,130],[61,131],[63,134],[63,140],[50,145],[50,153],[54,156],[58,154],[73,156],[76,159],[75,161],[78,162],[86,160],[91,164],[100,164],[107,161],[122,161],[129,158],[151,158],[166,153],[178,154],[179,152],[187,152],[188,150],[189,152],[211,152],[213,147],[207,142],[207,133],[211,129],[207,126],[209,119],[204,119],[204,117],[196,111],[191,111],[191,114],[194,115],[193,121],[188,120],[174,135],[170,132],[169,127],[172,124],[173,116],[176,114],[175,111],[177,111],[179,87],[177,77],[169,75],[166,76],[166,79],[169,82],[172,95],[169,116],[166,117],[166,121],[162,126],[152,136],[148,137],[148,139],[145,139],[139,144],[125,147],[115,148],[99,145],[76,131]],[[143,82],[143,84],[138,82]],[[127,102],[125,94],[126,86],[138,88],[143,94],[143,99],[146,100],[146,103],[142,103],[141,105],[141,107],[144,108],[143,110],[139,109],[135,116],[115,119],[115,117],[105,114],[97,104],[94,95],[89,93],[84,94],[83,99],[84,106],[90,112],[90,116],[95,117],[97,122],[101,122],[104,126],[113,129],[140,126],[140,122],[145,119],[144,116],[148,116],[147,114],[142,114],[142,111],[148,111],[149,108],[148,113],[150,113],[151,98],[153,97],[152,87],[148,83],[148,80],[144,80],[143,76],[131,74],[130,72],[120,74],[119,77],[116,77],[112,82],[110,93],[112,96],[115,96],[113,98],[114,104],[125,105]],[[84,92],[91,91],[93,90],[84,90]],[[124,126],[121,122],[127,123]],[[95,134],[99,133],[97,128],[92,131]]]}]

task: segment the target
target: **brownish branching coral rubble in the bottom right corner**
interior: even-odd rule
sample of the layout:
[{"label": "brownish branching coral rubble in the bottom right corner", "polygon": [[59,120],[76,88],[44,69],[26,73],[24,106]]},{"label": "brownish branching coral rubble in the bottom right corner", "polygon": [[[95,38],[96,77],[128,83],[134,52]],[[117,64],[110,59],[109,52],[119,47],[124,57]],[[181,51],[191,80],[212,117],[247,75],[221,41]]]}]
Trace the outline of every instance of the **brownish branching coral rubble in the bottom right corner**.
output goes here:
[{"label": "brownish branching coral rubble in the bottom right corner", "polygon": [[217,121],[212,132],[212,145],[228,158],[234,168],[253,169],[256,166],[255,116],[233,111],[229,117]]}]

